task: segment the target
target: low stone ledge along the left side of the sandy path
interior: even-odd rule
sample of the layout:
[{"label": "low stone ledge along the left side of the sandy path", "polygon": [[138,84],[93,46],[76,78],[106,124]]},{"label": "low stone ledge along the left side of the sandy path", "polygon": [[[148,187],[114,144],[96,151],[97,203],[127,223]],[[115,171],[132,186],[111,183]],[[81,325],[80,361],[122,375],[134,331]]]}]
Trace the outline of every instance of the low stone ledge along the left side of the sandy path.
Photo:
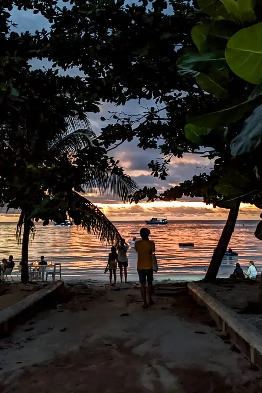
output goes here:
[{"label": "low stone ledge along the left side of the sandy path", "polygon": [[[34,292],[14,305],[0,311],[0,338],[12,330],[12,328],[26,319],[32,317],[41,308],[44,309],[51,301],[53,295],[58,295],[58,292],[63,290],[64,282],[52,282],[43,289]],[[43,300],[45,304],[43,305]]]}]

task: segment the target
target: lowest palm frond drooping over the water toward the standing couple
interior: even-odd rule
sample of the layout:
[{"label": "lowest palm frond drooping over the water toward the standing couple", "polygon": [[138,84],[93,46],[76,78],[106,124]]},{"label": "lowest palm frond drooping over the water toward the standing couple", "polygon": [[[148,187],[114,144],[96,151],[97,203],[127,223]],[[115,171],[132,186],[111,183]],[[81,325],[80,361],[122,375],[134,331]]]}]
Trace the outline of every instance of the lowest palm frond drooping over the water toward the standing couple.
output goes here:
[{"label": "lowest palm frond drooping over the water toward the standing couple", "polygon": [[[74,210],[71,217],[76,225],[81,225],[90,235],[95,236],[107,245],[120,244],[121,235],[111,221],[102,213],[97,206],[81,196],[73,193]],[[72,211],[72,210],[71,210]]]}]

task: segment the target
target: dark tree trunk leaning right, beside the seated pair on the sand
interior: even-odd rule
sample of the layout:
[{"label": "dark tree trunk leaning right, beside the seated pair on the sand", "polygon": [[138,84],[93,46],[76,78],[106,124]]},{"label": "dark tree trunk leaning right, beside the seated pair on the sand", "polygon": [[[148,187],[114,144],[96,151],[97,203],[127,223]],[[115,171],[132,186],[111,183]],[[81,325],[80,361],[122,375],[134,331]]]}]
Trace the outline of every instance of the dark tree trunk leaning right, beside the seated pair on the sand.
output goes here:
[{"label": "dark tree trunk leaning right, beside the seated pair on the sand", "polygon": [[208,271],[206,273],[204,279],[205,282],[213,282],[216,279],[223,257],[225,255],[225,252],[227,251],[227,247],[231,239],[232,233],[234,232],[234,228],[239,212],[239,207],[240,207],[240,202],[237,203],[236,207],[231,208],[229,211],[226,225],[224,226],[223,232],[220,236],[219,242],[213,253]]}]

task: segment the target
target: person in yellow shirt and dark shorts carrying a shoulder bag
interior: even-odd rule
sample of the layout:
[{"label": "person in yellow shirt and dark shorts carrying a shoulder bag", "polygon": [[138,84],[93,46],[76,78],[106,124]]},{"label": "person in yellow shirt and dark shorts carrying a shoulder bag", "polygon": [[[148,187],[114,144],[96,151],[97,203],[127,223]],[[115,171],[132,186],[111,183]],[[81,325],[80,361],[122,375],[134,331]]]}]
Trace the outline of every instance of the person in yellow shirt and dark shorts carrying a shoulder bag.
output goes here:
[{"label": "person in yellow shirt and dark shorts carrying a shoulder bag", "polygon": [[[152,300],[152,254],[155,252],[155,243],[149,240],[150,230],[142,228],[140,230],[141,240],[135,242],[135,250],[137,252],[137,272],[141,284],[141,294],[143,299],[143,309],[154,304]],[[146,298],[146,281],[147,281],[147,296]]]}]

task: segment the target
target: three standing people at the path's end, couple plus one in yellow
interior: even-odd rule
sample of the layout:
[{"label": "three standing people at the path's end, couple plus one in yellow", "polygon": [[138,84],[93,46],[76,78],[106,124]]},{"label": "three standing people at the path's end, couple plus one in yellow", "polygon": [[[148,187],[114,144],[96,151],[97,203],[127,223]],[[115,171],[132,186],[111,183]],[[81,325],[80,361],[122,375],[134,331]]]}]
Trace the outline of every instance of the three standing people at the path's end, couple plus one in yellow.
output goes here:
[{"label": "three standing people at the path's end, couple plus one in yellow", "polygon": [[[152,268],[152,255],[156,251],[155,243],[149,240],[150,230],[148,228],[142,228],[140,230],[141,240],[135,242],[135,250],[137,252],[137,273],[139,282],[141,285],[141,295],[143,299],[143,308],[146,309],[154,304],[152,300],[152,282],[153,268]],[[109,280],[112,284],[112,278],[114,276],[114,285],[116,283],[116,270],[117,265],[120,270],[120,281],[123,283],[123,270],[125,282],[127,282],[127,258],[128,245],[125,239],[122,239],[120,246],[111,248],[111,252],[108,255],[108,263],[106,270],[109,269]],[[146,282],[147,282],[147,293],[146,293]],[[148,296],[148,301],[147,301]]]}]

